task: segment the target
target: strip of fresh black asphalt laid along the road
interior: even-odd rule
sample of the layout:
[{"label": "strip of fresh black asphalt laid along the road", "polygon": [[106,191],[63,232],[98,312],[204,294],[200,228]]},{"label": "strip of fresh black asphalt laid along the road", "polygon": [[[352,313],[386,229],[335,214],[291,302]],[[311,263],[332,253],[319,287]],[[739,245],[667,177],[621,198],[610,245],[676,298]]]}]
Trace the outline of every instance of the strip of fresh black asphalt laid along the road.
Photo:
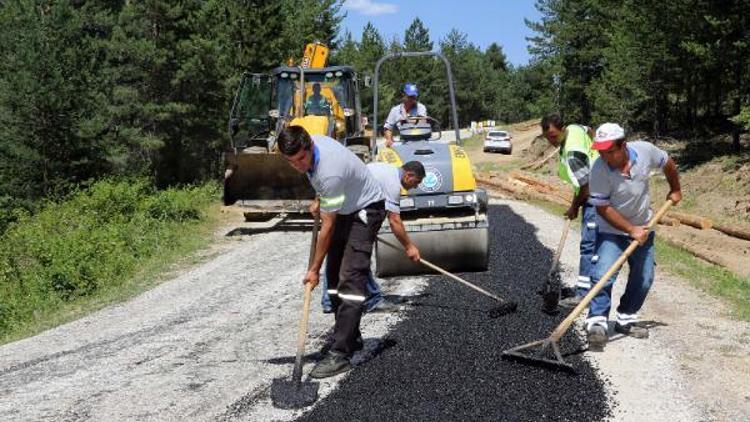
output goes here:
[{"label": "strip of fresh black asphalt laid along the road", "polygon": [[[549,335],[564,318],[541,312],[536,294],[552,251],[536,228],[504,205],[490,207],[491,264],[465,274],[518,311],[490,318],[494,303],[445,277],[405,312],[387,347],[356,366],[302,421],[598,421],[611,414],[605,383],[574,335],[562,350],[578,375],[501,359],[501,352]],[[366,318],[366,316],[365,316]]]}]

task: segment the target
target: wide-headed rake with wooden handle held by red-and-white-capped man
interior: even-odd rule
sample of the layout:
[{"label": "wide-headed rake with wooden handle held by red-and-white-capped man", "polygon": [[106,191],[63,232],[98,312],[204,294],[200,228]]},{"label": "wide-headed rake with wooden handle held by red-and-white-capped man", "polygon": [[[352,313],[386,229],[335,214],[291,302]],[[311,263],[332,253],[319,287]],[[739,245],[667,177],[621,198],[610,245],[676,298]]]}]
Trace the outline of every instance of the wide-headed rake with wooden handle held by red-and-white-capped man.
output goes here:
[{"label": "wide-headed rake with wooden handle held by red-and-white-capped man", "polygon": [[[659,220],[664,216],[667,210],[669,210],[672,204],[672,200],[667,200],[667,202],[662,205],[656,215],[654,215],[654,217],[648,223],[648,226],[646,226],[646,230],[651,231],[656,223],[658,223]],[[557,326],[557,328],[555,328],[555,330],[552,332],[552,334],[550,334],[549,337],[508,349],[503,352],[503,359],[509,359],[521,363],[575,373],[576,371],[573,366],[565,362],[565,359],[563,359],[562,354],[560,353],[560,346],[558,342],[560,341],[560,338],[562,338],[562,336],[568,331],[570,326],[573,325],[573,322],[576,320],[576,318],[578,318],[578,315],[580,315],[586,309],[586,307],[588,307],[594,296],[596,296],[599,291],[604,288],[604,286],[607,284],[607,280],[609,280],[610,277],[612,277],[612,275],[614,275],[617,270],[620,269],[620,267],[625,263],[625,261],[637,247],[637,240],[633,240],[632,242],[630,242],[628,248],[625,249],[622,255],[620,255],[620,257],[617,259],[617,261],[612,264],[609,270],[607,270],[606,274],[604,274],[604,276],[602,276],[602,278],[591,288],[591,290],[589,290],[588,294],[581,300],[581,303],[579,303],[578,306],[573,309],[570,315],[568,315],[568,317],[565,318],[563,322],[561,322],[560,325]],[[530,351],[535,348],[536,350],[533,352],[522,353],[523,351]],[[548,352],[550,351],[550,349],[552,350],[552,353],[554,355],[553,359],[546,357],[548,356]]]}]

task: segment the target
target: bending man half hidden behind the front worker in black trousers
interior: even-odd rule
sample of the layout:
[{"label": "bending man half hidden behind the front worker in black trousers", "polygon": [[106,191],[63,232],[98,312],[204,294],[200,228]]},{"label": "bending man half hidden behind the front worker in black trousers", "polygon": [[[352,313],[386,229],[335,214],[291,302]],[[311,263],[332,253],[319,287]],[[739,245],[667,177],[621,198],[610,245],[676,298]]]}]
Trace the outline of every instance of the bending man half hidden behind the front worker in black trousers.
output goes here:
[{"label": "bending man half hidden behind the front worker in black trousers", "polygon": [[[406,233],[404,223],[401,221],[401,188],[407,191],[416,188],[425,176],[425,169],[419,161],[409,161],[401,167],[394,167],[387,163],[370,163],[367,165],[375,179],[380,184],[380,188],[385,195],[385,210],[388,212],[388,224],[396,238],[404,246],[406,255],[415,262],[419,262],[419,249],[411,241]],[[321,304],[323,312],[332,312],[333,306],[331,298],[327,292],[327,277],[323,277],[323,297]],[[383,292],[375,277],[370,271],[367,275],[367,300],[365,301],[366,312],[392,312],[398,309],[398,305],[385,299]]]}]

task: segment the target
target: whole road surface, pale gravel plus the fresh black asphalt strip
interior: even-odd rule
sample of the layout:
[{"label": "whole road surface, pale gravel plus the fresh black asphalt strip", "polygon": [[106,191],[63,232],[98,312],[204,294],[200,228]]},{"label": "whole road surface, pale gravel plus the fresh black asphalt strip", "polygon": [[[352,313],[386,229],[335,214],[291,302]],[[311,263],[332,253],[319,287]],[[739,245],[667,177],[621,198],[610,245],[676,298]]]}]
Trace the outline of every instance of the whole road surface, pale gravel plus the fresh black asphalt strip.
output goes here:
[{"label": "whole road surface, pale gravel plus the fresh black asphalt strip", "polygon": [[[384,281],[404,310],[363,319],[364,353],[325,380],[310,409],[274,409],[273,378],[291,373],[309,233],[253,233],[226,252],[121,305],[0,347],[0,419],[12,421],[681,420],[710,419],[692,400],[659,329],[620,338],[603,354],[574,353],[578,377],[500,360],[511,345],[546,336],[562,316],[534,294],[561,219],[493,201],[492,269],[468,275],[517,300],[491,319],[491,301],[442,277]],[[563,263],[575,266],[577,236]],[[659,281],[657,280],[657,283]],[[316,291],[315,300],[319,299]],[[314,307],[309,359],[332,323]],[[582,351],[579,333],[564,350]]]}]

